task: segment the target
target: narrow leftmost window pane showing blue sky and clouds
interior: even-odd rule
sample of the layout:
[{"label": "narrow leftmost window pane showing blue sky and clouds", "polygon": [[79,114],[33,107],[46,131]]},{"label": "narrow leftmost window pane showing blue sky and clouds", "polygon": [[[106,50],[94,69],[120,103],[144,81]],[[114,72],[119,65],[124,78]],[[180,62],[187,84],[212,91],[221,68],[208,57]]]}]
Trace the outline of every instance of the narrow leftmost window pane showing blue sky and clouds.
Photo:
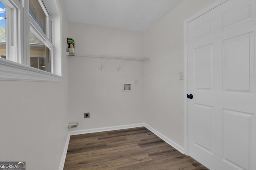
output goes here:
[{"label": "narrow leftmost window pane showing blue sky and clouds", "polygon": [[0,1],[0,57],[6,59],[5,5]]}]

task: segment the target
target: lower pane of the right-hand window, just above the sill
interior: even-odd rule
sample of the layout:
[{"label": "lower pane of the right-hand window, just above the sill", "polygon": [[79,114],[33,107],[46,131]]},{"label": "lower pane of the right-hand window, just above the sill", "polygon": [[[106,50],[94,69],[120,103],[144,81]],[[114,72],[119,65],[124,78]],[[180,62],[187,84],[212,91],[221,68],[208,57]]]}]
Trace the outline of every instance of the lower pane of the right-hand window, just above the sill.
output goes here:
[{"label": "lower pane of the right-hand window, just above the sill", "polygon": [[51,72],[50,54],[50,49],[30,31],[30,66]]}]

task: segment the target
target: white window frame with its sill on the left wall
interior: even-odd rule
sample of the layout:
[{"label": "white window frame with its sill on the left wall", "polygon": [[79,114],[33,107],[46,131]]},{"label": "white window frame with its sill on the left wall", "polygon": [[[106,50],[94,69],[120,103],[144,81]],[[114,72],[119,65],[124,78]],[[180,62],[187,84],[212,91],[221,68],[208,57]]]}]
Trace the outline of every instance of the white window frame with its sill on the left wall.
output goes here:
[{"label": "white window frame with its sill on the left wall", "polygon": [[[50,11],[48,12],[50,14],[52,13],[51,23],[53,23],[53,28],[50,28],[51,24],[49,24],[49,27],[47,28],[52,29],[53,31],[53,37],[47,35],[50,40],[52,39],[52,42],[50,42],[44,33],[40,33],[40,31],[42,31],[41,29],[38,31],[39,26],[35,24],[31,16],[28,15],[28,0],[21,0],[21,3],[17,0],[1,1],[5,2],[5,4],[8,1],[17,9],[16,14],[13,15],[13,23],[17,24],[17,29],[11,30],[10,26],[7,25],[9,23],[6,23],[6,35],[14,35],[12,37],[11,47],[6,48],[8,50],[8,52],[6,51],[6,57],[7,54],[8,57],[11,56],[10,51],[11,53],[15,51],[15,54],[12,54],[12,56],[15,57],[12,57],[13,59],[8,58],[10,60],[0,58],[0,80],[62,82],[62,44],[54,44],[53,41],[54,39],[57,39],[59,42],[62,42],[62,16],[58,0],[43,0],[44,4],[50,6]],[[48,6],[46,6],[46,8]],[[52,72],[46,72],[30,66],[30,30],[51,50]],[[47,33],[49,33],[49,31],[47,31]],[[9,37],[6,37],[6,46],[7,39],[9,39]],[[8,40],[8,46],[10,46],[9,41],[10,40]]]}]

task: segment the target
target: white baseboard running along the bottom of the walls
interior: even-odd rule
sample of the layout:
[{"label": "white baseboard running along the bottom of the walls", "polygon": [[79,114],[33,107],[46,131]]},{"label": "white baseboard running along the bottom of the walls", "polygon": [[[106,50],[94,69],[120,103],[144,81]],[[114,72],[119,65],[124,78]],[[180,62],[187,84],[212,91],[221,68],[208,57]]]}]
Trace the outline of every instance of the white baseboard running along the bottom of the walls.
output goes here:
[{"label": "white baseboard running along the bottom of the walls", "polygon": [[164,136],[162,133],[156,131],[151,126],[147,125],[146,123],[138,123],[138,124],[132,124],[132,125],[122,125],[122,126],[112,126],[112,127],[102,127],[102,128],[95,128],[95,129],[86,129],[86,130],[78,130],[78,131],[69,131],[68,137],[66,140],[66,144],[64,147],[64,151],[62,154],[62,159],[60,161],[60,167],[59,170],[63,170],[66,154],[68,151],[68,143],[71,135],[81,135],[86,133],[96,133],[96,132],[105,132],[105,131],[114,131],[114,130],[121,130],[121,129],[129,129],[129,128],[135,128],[135,127],[146,127],[148,130],[150,130],[152,133],[154,133],[156,136],[160,137],[163,141],[177,149],[179,152],[184,154],[184,148],[175,143],[174,141],[170,140],[168,137]]}]

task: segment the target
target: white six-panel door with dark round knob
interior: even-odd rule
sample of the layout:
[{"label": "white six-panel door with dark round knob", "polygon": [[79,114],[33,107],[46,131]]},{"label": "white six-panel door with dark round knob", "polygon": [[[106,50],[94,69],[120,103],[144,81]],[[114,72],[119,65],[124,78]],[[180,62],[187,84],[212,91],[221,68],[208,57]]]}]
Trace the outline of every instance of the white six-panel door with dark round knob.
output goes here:
[{"label": "white six-panel door with dark round knob", "polygon": [[188,154],[211,170],[256,170],[256,0],[187,26]]}]

